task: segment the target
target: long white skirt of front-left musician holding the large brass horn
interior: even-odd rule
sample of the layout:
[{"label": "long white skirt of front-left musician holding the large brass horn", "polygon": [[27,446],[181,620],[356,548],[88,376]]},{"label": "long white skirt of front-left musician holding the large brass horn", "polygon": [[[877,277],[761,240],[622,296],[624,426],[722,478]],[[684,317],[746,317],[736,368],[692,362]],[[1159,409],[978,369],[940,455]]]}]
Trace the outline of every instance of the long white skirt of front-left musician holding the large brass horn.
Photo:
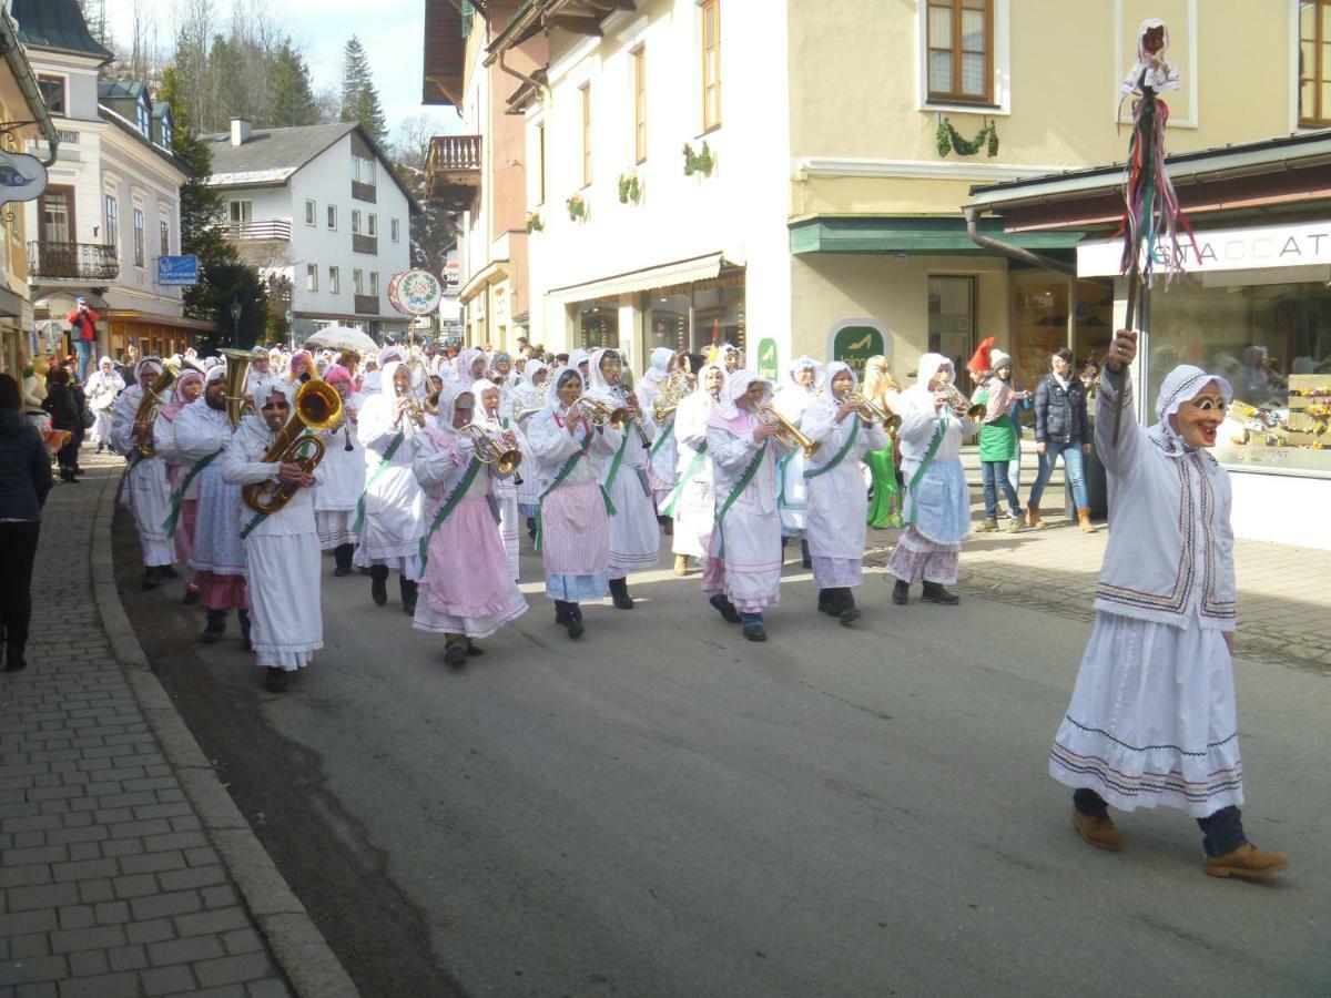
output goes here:
[{"label": "long white skirt of front-left musician holding the large brass horn", "polygon": [[323,647],[321,552],[313,534],[252,534],[250,641],[261,668],[294,672]]}]

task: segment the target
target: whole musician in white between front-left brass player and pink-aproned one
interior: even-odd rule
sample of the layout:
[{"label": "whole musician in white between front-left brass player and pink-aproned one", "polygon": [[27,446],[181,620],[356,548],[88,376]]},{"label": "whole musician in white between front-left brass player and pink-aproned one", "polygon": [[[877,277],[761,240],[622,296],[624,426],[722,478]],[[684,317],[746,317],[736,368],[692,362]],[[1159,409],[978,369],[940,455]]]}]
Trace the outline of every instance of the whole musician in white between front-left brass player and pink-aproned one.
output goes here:
[{"label": "whole musician in white between front-left brass player and pink-aproned one", "polygon": [[370,596],[381,607],[389,601],[389,571],[395,570],[402,609],[415,613],[426,523],[411,459],[425,413],[413,394],[411,371],[401,361],[383,369],[382,386],[361,406],[357,420],[366,476],[353,527],[359,531],[354,563],[370,570]]}]

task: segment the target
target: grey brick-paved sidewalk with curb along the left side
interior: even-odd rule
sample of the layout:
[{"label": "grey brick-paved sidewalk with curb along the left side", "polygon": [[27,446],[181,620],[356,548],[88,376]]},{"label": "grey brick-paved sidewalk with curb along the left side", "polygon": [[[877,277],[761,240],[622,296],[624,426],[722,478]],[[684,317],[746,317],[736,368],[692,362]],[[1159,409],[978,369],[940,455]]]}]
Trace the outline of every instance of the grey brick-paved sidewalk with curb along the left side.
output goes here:
[{"label": "grey brick-paved sidewalk with curb along the left side", "polygon": [[81,460],[43,515],[28,669],[0,673],[0,998],[354,994],[148,671],[120,462]]}]

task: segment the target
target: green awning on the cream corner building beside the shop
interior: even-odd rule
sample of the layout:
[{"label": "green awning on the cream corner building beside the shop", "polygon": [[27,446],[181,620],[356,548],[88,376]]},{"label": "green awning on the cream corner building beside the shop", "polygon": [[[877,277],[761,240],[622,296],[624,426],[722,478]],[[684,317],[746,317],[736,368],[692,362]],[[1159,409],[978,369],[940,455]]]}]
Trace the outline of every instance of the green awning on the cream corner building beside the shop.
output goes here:
[{"label": "green awning on the cream corner building beside the shop", "polygon": [[[1004,232],[1000,220],[985,220],[980,232],[1029,250],[1071,250],[1087,233]],[[966,234],[966,220],[877,216],[807,218],[791,225],[791,253],[909,253],[914,255],[982,255]]]}]

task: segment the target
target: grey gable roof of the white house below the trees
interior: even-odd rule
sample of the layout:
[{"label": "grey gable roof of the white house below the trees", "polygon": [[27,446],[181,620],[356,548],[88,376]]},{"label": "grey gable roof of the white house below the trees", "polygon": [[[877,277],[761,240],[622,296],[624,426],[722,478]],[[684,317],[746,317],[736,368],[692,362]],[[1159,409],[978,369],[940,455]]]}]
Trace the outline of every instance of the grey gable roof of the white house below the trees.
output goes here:
[{"label": "grey gable roof of the white house below the trees", "polygon": [[387,153],[357,121],[299,128],[256,128],[244,145],[232,145],[230,133],[200,136],[213,156],[213,173],[208,185],[214,188],[273,186],[286,184],[301,168],[335,142],[357,132],[383,166],[383,173],[407,200],[411,212],[421,212],[415,196],[393,169]]}]

